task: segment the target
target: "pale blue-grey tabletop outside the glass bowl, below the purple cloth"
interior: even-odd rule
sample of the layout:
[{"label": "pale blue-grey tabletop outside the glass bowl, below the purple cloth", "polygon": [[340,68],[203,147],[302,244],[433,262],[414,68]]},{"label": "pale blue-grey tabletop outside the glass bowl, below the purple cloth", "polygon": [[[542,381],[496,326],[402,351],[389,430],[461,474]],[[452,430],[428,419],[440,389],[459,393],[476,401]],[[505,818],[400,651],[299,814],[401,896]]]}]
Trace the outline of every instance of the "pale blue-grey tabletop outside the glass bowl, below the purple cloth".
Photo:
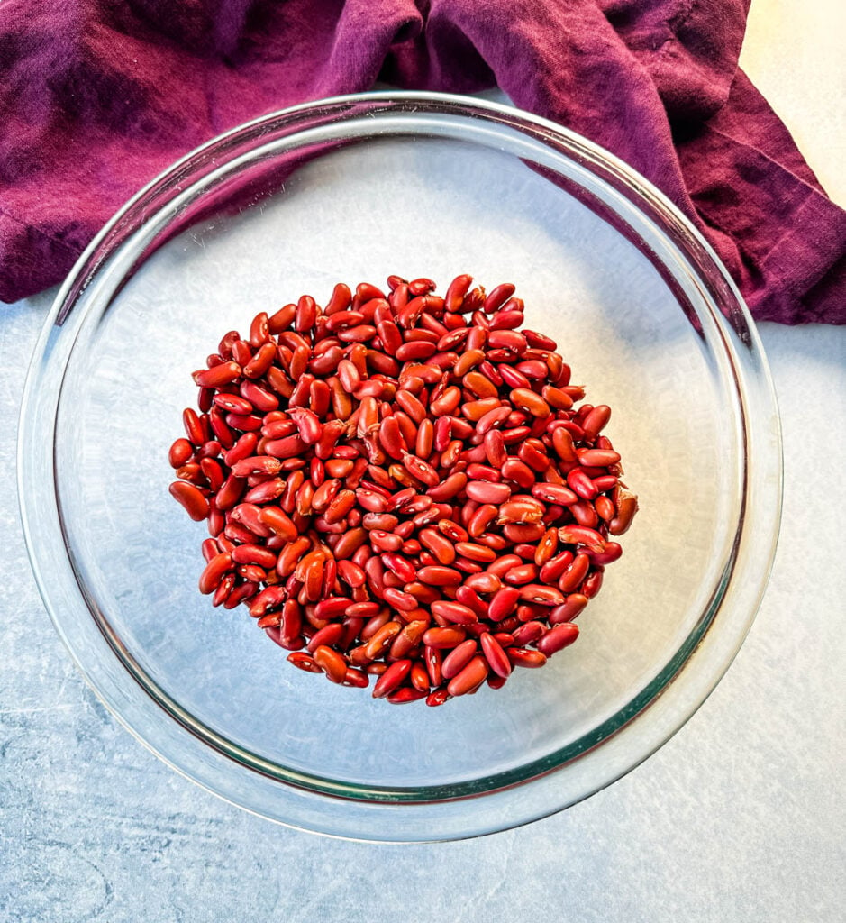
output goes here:
[{"label": "pale blue-grey tabletop outside the glass bowl, below the purple cloth", "polygon": [[762,325],[784,426],[780,549],[743,650],[689,724],[554,818],[379,846],[289,831],[208,795],[78,677],[30,575],[12,477],[23,371],[49,301],[0,318],[3,923],[842,918],[846,330]]}]

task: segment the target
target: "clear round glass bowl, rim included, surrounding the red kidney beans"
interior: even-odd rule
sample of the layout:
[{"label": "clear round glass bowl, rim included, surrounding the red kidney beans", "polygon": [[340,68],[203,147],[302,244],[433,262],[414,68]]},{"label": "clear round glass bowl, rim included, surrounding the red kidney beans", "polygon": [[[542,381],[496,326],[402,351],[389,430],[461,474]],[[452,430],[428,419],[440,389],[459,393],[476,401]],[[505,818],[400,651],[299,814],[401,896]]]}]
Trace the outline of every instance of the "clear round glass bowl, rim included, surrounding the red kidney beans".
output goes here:
[{"label": "clear round glass bowl, rim included, surrounding the red kidney beans", "polygon": [[[197,593],[207,533],[168,494],[167,450],[189,372],[256,311],[459,272],[515,282],[527,326],[614,408],[641,510],[575,647],[501,691],[397,708],[295,670]],[[115,216],[32,361],[19,491],[56,629],[163,760],[295,827],[452,839],[589,796],[708,696],[769,575],[779,419],[733,283],[626,164],[495,103],[372,93],[237,128]]]}]

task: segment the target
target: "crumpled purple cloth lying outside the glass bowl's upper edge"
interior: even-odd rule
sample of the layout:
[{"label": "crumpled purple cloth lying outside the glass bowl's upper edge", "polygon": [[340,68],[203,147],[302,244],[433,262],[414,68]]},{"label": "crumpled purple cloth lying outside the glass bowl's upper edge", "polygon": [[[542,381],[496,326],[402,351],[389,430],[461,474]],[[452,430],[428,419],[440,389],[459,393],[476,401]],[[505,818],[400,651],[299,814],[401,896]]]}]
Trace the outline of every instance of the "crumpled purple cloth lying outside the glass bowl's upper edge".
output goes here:
[{"label": "crumpled purple cloth lying outside the glass bowl's upper edge", "polygon": [[690,216],[759,319],[846,322],[846,212],[737,68],[748,0],[5,0],[0,299],[197,144],[367,90],[498,84]]}]

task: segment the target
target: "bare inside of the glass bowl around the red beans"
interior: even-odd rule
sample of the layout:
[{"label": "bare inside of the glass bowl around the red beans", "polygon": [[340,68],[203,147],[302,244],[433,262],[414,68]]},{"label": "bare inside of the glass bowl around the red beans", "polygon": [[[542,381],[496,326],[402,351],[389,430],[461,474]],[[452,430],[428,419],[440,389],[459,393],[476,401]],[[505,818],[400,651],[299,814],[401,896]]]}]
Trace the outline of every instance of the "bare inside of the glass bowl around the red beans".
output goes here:
[{"label": "bare inside of the glass bowl around the red beans", "polygon": [[[744,460],[716,335],[623,234],[533,169],[535,142],[506,141],[489,126],[386,131],[304,159],[238,210],[195,190],[205,213],[141,258],[152,231],[139,232],[78,321],[54,447],[77,581],[138,680],[195,735],[271,775],[352,797],[443,796],[578,754],[661,688],[719,593]],[[189,373],[226,330],[299,294],[325,303],[340,280],[425,275],[443,291],[465,271],[488,289],[514,282],[527,326],[558,342],[587,401],[613,407],[606,432],[641,509],[578,644],[501,691],[394,708],[295,670],[243,607],[197,593],[208,533],[168,495],[167,450],[196,400]]]}]

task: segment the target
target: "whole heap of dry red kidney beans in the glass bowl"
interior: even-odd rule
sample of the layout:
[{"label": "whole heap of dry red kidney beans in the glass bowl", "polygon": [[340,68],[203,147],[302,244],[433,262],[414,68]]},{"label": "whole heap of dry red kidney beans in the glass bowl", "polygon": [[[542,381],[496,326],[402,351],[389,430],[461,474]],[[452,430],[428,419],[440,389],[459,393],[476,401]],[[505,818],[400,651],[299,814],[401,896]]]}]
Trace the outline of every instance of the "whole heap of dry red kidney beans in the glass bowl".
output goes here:
[{"label": "whole heap of dry red kidney beans in the glass bowl", "polygon": [[575,641],[637,512],[610,408],[577,406],[514,286],[434,290],[341,282],[230,330],[168,455],[208,520],[212,605],[395,704],[499,689]]}]

